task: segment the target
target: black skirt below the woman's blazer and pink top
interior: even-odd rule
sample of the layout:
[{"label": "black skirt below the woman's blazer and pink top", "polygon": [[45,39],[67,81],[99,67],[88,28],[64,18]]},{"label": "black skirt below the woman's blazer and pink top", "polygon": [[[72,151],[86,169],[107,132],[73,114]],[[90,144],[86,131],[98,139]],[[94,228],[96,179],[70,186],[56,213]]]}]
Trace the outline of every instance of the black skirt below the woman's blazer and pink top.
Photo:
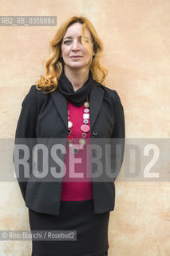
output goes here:
[{"label": "black skirt below the woman's blazer and pink top", "polygon": [[108,255],[109,214],[94,214],[93,199],[61,201],[61,214],[29,209],[30,230],[76,230],[76,240],[32,240],[32,256]]}]

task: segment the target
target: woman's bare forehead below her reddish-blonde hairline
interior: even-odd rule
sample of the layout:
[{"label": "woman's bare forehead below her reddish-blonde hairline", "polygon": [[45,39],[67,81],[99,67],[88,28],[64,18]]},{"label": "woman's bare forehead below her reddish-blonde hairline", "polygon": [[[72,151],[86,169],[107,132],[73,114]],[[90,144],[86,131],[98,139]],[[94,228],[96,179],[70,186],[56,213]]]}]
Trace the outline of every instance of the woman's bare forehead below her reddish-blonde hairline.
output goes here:
[{"label": "woman's bare forehead below her reddish-blonde hairline", "polygon": [[[65,37],[80,37],[81,36],[81,30],[82,30],[82,24],[79,22],[73,23],[70,25],[66,32],[65,32]],[[85,28],[85,36],[88,36],[89,38],[91,37],[89,30]]]}]

